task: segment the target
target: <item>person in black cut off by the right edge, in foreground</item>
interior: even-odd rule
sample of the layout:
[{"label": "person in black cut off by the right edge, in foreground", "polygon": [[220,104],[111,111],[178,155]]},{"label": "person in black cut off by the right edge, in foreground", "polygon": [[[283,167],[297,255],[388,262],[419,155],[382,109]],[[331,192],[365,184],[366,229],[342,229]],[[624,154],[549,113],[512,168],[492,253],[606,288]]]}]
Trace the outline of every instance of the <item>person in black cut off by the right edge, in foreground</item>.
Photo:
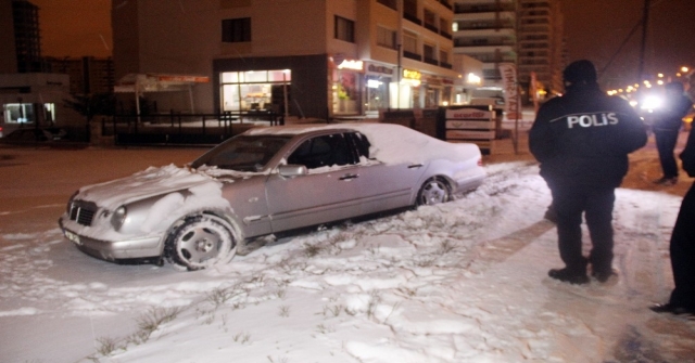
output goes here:
[{"label": "person in black cut off by the right edge, in foreground", "polygon": [[[695,177],[695,132],[691,129],[681,153],[683,170]],[[695,183],[685,193],[673,225],[669,251],[675,287],[669,302],[650,307],[656,312],[695,314]]]}]

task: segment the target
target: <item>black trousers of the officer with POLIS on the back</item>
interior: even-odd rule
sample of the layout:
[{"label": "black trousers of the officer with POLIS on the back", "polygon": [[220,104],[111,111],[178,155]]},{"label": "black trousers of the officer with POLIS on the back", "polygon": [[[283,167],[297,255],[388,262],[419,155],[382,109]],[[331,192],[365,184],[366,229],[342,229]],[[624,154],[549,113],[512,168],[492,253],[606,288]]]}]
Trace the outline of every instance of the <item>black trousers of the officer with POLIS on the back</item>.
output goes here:
[{"label": "black trousers of the officer with POLIS on the back", "polygon": [[[568,269],[586,272],[609,272],[612,264],[612,208],[615,187],[554,183],[551,189],[557,211],[557,243],[560,258]],[[582,216],[586,219],[592,249],[582,255]]]}]

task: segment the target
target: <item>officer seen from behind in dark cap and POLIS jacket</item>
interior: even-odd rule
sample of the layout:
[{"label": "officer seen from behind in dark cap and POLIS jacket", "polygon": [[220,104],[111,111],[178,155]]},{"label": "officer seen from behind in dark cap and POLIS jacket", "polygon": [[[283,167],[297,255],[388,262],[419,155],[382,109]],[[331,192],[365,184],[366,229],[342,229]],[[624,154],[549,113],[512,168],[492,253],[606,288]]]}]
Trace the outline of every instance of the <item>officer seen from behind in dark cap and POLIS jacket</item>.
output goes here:
[{"label": "officer seen from behind in dark cap and POLIS jacket", "polygon": [[[586,60],[563,73],[566,93],[545,102],[529,133],[529,147],[541,163],[541,176],[553,195],[564,269],[548,272],[570,284],[605,282],[612,274],[615,189],[628,172],[628,154],[647,142],[646,127],[630,104],[608,96]],[[582,255],[582,215],[592,242]]]}]

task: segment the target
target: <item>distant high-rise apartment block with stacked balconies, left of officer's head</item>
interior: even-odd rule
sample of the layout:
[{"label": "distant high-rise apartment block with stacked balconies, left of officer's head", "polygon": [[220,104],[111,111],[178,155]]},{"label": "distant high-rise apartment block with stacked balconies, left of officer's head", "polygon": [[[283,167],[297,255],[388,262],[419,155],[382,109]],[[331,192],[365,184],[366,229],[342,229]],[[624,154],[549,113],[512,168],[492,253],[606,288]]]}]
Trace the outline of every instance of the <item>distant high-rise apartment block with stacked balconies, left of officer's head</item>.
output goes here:
[{"label": "distant high-rise apartment block with stacked balconies, left of officer's head", "polygon": [[[563,18],[557,0],[456,0],[454,52],[483,62],[488,92],[502,90],[501,63],[517,65],[525,102],[563,90]],[[534,90],[531,90],[535,86]]]}]

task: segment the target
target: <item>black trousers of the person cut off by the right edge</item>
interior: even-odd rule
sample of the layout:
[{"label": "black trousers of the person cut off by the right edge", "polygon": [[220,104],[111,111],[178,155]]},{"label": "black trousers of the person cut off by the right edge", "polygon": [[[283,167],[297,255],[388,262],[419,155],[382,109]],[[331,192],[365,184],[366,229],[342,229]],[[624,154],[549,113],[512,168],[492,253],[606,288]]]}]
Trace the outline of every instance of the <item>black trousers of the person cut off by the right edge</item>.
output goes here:
[{"label": "black trousers of the person cut off by the right edge", "polygon": [[695,184],[683,197],[669,249],[675,284],[669,303],[695,309]]}]

